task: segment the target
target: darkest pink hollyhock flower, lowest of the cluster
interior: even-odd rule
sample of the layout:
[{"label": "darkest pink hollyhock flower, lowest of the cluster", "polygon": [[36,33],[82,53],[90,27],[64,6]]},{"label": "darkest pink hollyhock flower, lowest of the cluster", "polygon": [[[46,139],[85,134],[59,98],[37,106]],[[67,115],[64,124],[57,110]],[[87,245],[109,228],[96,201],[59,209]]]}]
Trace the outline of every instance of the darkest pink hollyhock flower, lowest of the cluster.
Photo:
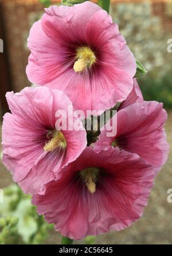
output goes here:
[{"label": "darkest pink hollyhock flower, lowest of the cluster", "polygon": [[56,231],[79,240],[119,231],[138,220],[153,177],[153,168],[138,155],[112,147],[96,153],[87,147],[32,202]]}]

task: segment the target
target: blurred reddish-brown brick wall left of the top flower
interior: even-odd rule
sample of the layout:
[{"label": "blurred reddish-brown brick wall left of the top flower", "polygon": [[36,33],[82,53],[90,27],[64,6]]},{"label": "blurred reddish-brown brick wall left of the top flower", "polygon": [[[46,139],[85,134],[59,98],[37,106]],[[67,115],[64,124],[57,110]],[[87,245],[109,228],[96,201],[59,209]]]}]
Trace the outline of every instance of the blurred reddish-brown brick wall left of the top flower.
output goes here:
[{"label": "blurred reddish-brown brick wall left of the top flower", "polygon": [[29,29],[42,11],[42,5],[35,0],[5,0],[0,2],[5,26],[6,49],[9,55],[11,82],[14,91],[29,85],[26,77],[29,50],[26,39]]}]

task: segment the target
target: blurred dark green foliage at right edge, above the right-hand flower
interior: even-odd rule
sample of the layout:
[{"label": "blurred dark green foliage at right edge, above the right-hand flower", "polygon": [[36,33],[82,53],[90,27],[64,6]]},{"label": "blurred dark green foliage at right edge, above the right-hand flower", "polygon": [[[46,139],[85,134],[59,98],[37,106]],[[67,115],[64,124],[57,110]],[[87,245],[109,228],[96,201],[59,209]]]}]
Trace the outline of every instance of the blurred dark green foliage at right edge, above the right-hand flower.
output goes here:
[{"label": "blurred dark green foliage at right edge, above the right-hand flower", "polygon": [[161,79],[151,76],[139,77],[138,82],[145,100],[157,100],[165,108],[172,108],[172,75],[166,74]]}]

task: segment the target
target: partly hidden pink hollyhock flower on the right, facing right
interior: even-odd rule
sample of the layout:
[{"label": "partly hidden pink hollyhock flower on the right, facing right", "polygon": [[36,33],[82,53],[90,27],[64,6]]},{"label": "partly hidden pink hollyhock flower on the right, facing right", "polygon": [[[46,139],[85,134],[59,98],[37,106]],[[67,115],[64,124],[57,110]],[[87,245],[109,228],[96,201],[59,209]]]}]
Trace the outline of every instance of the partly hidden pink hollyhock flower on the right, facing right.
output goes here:
[{"label": "partly hidden pink hollyhock flower on the right, facing right", "polygon": [[[118,146],[131,153],[137,153],[148,164],[161,167],[167,160],[169,145],[166,141],[166,111],[157,101],[143,101],[123,108],[101,128],[95,150],[107,146]],[[117,118],[117,119],[116,119]],[[112,131],[112,124],[117,122],[116,134],[107,136]],[[115,130],[115,129],[114,129]]]}]

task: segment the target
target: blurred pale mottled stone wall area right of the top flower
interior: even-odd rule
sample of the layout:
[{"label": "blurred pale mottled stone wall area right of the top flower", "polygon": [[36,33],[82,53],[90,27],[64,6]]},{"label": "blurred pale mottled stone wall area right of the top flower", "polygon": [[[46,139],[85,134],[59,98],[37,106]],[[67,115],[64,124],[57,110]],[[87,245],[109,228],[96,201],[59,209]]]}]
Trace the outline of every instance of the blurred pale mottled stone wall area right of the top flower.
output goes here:
[{"label": "blurred pale mottled stone wall area right of the top flower", "polygon": [[165,32],[161,17],[153,15],[151,2],[115,3],[111,5],[111,14],[135,58],[154,80],[172,73],[172,55],[167,52],[171,33]]}]

